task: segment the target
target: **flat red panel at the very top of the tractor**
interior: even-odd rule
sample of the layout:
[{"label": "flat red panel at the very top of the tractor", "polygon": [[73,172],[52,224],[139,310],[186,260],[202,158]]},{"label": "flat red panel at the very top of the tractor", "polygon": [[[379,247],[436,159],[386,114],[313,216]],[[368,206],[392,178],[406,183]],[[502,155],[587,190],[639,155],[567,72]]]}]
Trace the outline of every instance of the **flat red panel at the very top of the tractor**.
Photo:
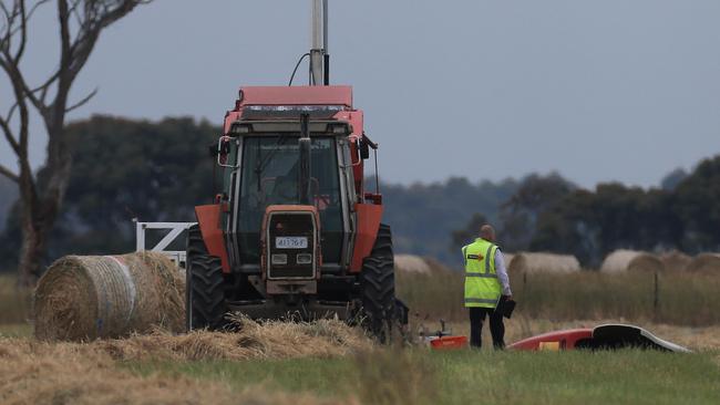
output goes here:
[{"label": "flat red panel at the very top of the tractor", "polygon": [[246,86],[244,105],[344,105],[352,107],[351,86]]}]

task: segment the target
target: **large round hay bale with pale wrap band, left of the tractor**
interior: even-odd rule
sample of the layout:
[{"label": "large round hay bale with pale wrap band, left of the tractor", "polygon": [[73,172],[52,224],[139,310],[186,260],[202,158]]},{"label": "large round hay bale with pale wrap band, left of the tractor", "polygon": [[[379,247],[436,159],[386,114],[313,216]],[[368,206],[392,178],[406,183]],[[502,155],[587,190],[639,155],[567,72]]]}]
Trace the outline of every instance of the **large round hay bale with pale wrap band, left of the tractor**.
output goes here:
[{"label": "large round hay bale with pale wrap band, left of the tractor", "polygon": [[66,256],[38,282],[35,336],[94,340],[184,330],[185,282],[161,253]]}]

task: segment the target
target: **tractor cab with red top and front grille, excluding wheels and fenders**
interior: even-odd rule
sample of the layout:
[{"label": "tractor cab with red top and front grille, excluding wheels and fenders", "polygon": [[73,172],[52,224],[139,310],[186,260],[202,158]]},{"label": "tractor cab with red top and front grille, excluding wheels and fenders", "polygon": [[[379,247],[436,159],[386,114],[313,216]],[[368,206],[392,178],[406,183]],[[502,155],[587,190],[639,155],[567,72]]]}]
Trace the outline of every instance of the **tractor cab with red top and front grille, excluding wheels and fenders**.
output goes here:
[{"label": "tractor cab with red top and front grille, excluding wheels and fenders", "polygon": [[[361,112],[348,105],[350,87],[338,87],[240,91],[218,143],[223,195],[229,205],[223,222],[233,267],[267,274],[277,267],[308,264],[306,255],[315,248],[316,271],[286,276],[315,278],[318,270],[338,274],[349,267],[360,137],[348,118]],[[280,215],[287,218],[274,222],[271,217]],[[288,221],[307,221],[304,227],[312,227],[313,235],[274,239],[276,232],[288,231]]]}]

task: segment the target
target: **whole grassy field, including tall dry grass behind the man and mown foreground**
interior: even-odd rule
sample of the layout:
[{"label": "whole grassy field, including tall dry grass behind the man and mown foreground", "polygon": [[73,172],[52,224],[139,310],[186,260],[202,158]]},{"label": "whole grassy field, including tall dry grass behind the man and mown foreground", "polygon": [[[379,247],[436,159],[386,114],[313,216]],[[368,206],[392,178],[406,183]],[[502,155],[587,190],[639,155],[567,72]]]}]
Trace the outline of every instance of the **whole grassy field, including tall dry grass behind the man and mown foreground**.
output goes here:
[{"label": "whole grassy field, including tall dry grass behind the man and mown foreground", "polygon": [[[340,322],[258,324],[238,333],[155,331],[91,343],[32,338],[28,293],[0,281],[2,404],[716,404],[719,280],[661,274],[513,279],[508,343],[553,330],[636,323],[693,354],[430,352],[381,347]],[[648,281],[649,279],[649,281]],[[650,282],[651,287],[648,287]],[[412,330],[466,334],[462,277],[398,274]],[[485,328],[484,341],[490,340]]]}]

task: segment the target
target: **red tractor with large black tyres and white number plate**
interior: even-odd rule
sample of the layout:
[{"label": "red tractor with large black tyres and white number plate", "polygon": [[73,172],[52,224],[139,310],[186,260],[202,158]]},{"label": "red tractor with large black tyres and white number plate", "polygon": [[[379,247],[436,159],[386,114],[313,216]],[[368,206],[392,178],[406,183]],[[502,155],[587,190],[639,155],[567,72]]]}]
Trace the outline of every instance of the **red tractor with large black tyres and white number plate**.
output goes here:
[{"label": "red tractor with large black tyres and white number plate", "polygon": [[407,323],[382,196],[364,185],[377,145],[352,89],[327,85],[327,48],[310,56],[325,85],[241,87],[225,116],[223,188],[188,230],[188,330],[223,329],[229,311],[357,320],[381,340]]}]

